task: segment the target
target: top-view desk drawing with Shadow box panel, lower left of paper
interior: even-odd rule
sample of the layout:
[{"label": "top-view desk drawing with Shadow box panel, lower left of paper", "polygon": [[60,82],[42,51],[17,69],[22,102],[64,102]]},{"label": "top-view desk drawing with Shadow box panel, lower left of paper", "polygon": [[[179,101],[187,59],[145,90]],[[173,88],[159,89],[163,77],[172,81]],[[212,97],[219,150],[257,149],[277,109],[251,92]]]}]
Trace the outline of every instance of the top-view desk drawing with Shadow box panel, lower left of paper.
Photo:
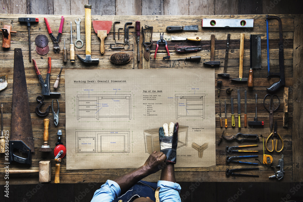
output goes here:
[{"label": "top-view desk drawing with Shadow box panel, lower left of paper", "polygon": [[129,131],[76,131],[76,153],[129,152]]}]

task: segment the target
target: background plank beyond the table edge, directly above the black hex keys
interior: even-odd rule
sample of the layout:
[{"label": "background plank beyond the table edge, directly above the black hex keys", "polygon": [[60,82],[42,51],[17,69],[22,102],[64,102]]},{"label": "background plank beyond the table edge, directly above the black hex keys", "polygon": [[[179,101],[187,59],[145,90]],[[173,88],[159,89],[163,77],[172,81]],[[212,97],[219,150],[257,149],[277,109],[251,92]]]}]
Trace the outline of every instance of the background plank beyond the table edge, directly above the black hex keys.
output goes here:
[{"label": "background plank beyond the table edge, directly above the black hex keys", "polygon": [[116,15],[142,15],[141,0],[116,0]]}]

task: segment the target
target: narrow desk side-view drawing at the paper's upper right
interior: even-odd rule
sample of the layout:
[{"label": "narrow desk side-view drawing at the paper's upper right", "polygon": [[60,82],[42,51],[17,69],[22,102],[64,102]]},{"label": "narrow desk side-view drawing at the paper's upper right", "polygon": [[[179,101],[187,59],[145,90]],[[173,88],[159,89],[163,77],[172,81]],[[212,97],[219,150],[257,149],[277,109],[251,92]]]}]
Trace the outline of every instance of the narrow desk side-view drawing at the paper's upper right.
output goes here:
[{"label": "narrow desk side-view drawing at the paper's upper right", "polygon": [[175,94],[176,119],[201,117],[205,119],[205,94]]}]

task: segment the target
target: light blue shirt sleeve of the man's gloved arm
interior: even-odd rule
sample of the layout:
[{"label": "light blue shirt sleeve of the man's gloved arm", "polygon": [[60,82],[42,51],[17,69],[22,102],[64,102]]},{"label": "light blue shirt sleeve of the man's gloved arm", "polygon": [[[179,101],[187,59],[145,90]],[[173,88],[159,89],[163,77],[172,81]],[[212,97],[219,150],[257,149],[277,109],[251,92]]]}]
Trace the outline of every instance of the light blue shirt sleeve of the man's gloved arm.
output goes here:
[{"label": "light blue shirt sleeve of the man's gloved arm", "polygon": [[160,202],[181,202],[181,187],[178,183],[159,180],[157,186],[160,187]]}]

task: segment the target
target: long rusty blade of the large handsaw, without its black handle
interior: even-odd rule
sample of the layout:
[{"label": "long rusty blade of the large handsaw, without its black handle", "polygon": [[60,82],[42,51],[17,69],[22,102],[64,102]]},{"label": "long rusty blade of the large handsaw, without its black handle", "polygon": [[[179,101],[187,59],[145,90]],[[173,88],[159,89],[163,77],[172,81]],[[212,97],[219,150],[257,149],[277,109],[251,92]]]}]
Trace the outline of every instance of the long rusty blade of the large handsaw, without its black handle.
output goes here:
[{"label": "long rusty blade of the large handsaw, without its black handle", "polygon": [[15,48],[10,140],[22,140],[35,152],[21,48]]}]

